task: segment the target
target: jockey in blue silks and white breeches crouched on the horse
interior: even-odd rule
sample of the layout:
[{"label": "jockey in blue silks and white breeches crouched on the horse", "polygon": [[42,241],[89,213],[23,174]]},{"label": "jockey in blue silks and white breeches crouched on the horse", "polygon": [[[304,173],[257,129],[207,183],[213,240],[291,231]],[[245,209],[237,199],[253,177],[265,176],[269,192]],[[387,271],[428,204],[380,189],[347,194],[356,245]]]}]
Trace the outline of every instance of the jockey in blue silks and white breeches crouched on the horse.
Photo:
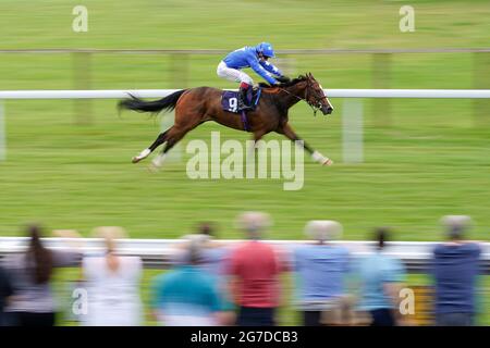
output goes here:
[{"label": "jockey in blue silks and white breeches crouched on the horse", "polygon": [[[278,85],[290,80],[282,72],[269,63],[269,58],[274,58],[272,45],[261,42],[256,47],[244,47],[229,53],[217,69],[218,76],[228,80],[240,83],[238,110],[253,109],[248,102],[247,91],[253,86],[254,80],[242,72],[244,67],[252,67],[257,74],[262,76],[270,85]],[[274,78],[272,75],[275,75]]]}]

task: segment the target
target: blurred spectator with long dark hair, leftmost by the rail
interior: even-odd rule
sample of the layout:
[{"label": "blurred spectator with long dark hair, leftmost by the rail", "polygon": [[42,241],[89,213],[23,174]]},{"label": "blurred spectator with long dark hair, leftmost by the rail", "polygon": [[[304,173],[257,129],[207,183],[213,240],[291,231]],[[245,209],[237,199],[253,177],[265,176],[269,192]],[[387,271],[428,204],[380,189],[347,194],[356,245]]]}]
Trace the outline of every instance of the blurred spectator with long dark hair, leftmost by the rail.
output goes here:
[{"label": "blurred spectator with long dark hair, leftmost by the rail", "polygon": [[[53,326],[57,306],[53,299],[50,281],[54,268],[76,265],[81,254],[71,251],[52,251],[41,241],[41,228],[30,225],[25,252],[5,258],[4,265],[12,279],[15,295],[11,298],[5,311],[12,313],[13,325]],[[61,237],[78,236],[70,232]]]}]

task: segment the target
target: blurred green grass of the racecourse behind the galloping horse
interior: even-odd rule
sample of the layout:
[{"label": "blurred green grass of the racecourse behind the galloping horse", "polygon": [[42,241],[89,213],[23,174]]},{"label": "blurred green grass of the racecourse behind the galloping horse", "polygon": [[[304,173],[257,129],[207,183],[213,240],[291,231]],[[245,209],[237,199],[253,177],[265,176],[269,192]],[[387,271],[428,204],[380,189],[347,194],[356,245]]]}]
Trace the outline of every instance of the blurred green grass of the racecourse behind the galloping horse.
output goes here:
[{"label": "blurred green grass of the racecourse behind the galloping horse", "polygon": [[[88,33],[74,33],[72,10],[88,9]],[[405,1],[0,0],[0,50],[223,49],[271,41],[275,49],[489,48],[489,1],[411,1],[415,32],[401,33]],[[490,88],[490,53],[279,54],[290,75],[313,72],[324,88]],[[0,89],[146,89],[201,85],[234,88],[216,75],[222,54],[0,53]],[[258,77],[252,74],[258,80]],[[9,100],[8,152],[0,162],[0,235],[38,221],[88,235],[120,225],[132,237],[170,238],[200,221],[223,238],[242,237],[234,217],[269,212],[273,239],[303,238],[311,219],[338,220],[345,239],[365,239],[377,225],[397,240],[440,240],[444,214],[469,214],[473,238],[490,229],[490,108],[473,100],[363,100],[365,161],[342,163],[344,100],[331,117],[306,104],[292,125],[335,165],[306,161],[305,186],[282,181],[191,181],[181,162],[150,174],[131,164],[160,122],[118,116],[115,100]],[[164,116],[170,122],[171,114]],[[205,124],[183,141],[246,140],[249,135]],[[269,139],[279,136],[269,135]],[[146,278],[156,271],[146,271]],[[66,276],[66,275],[65,275]],[[411,282],[426,284],[427,278]],[[486,281],[488,291],[488,279]],[[144,291],[147,289],[145,288]],[[146,293],[145,293],[146,294]],[[145,295],[145,297],[147,294]],[[291,308],[281,323],[295,324]],[[485,312],[489,313],[489,310]],[[488,315],[487,315],[488,316]],[[483,323],[489,318],[481,319]]]}]

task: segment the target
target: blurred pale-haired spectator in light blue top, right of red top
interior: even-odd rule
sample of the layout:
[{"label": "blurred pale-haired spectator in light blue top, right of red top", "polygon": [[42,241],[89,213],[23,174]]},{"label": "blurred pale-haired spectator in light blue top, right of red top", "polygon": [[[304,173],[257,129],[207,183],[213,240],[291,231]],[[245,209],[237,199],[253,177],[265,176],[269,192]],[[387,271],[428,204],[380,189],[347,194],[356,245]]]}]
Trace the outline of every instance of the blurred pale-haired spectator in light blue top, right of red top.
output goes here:
[{"label": "blurred pale-haired spectator in light blue top, right of red top", "polygon": [[341,235],[342,225],[334,221],[310,221],[305,232],[316,241],[297,247],[293,260],[303,324],[341,324],[346,299],[344,282],[348,273],[348,250],[329,241]]}]

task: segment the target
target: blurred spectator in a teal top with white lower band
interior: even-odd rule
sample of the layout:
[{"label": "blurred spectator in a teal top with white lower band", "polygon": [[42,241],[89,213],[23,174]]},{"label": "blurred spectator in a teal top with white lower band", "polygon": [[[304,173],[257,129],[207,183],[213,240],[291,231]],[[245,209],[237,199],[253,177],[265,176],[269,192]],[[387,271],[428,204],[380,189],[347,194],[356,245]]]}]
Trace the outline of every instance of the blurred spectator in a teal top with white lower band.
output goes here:
[{"label": "blurred spectator in a teal top with white lower band", "polygon": [[222,323],[220,291],[216,277],[199,268],[203,240],[189,236],[183,264],[155,278],[151,307],[157,320],[168,326],[213,326]]}]

